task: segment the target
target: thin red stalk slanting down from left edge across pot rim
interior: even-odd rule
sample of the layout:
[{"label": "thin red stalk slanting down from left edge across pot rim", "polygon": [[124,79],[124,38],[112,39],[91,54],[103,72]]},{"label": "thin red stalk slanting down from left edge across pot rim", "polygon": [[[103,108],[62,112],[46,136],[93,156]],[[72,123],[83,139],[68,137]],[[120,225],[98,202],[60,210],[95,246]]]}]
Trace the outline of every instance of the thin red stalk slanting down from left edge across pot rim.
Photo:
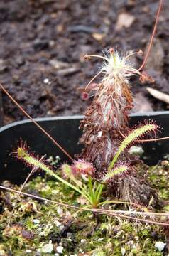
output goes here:
[{"label": "thin red stalk slanting down from left edge across pot rim", "polygon": [[55,139],[53,139],[53,137],[50,136],[50,134],[48,134],[48,132],[45,131],[45,129],[43,129],[43,127],[40,127],[40,125],[25,111],[23,110],[23,107],[21,107],[21,105],[18,104],[18,102],[16,102],[16,100],[13,99],[13,97],[9,94],[9,92],[6,91],[6,89],[4,88],[3,85],[0,84],[0,88],[1,90],[11,99],[11,101],[18,107],[19,110],[21,110],[21,112],[23,112],[23,114],[26,115],[26,117],[28,117],[28,119],[30,119],[33,124],[36,125],[36,127],[38,127],[38,129],[40,129],[41,132],[43,132],[43,134],[45,134],[54,144],[55,146],[58,146],[58,148],[71,160],[72,156],[70,156],[70,154],[67,153],[67,151],[65,151],[65,149],[62,148],[62,146],[60,146],[60,144],[58,144],[58,142],[55,141]]}]

